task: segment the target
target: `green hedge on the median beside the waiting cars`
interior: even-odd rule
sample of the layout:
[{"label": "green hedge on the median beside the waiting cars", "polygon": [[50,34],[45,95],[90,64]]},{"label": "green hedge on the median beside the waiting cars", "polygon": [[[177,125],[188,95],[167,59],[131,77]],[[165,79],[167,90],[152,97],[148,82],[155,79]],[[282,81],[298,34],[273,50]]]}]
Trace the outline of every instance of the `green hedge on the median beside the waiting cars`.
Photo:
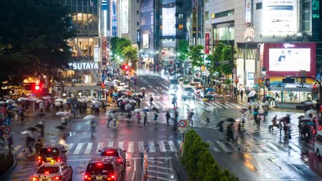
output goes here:
[{"label": "green hedge on the median beside the waiting cars", "polygon": [[181,160],[189,180],[238,180],[228,170],[223,170],[217,165],[213,155],[209,152],[209,144],[202,141],[194,130],[186,132],[183,148]]}]

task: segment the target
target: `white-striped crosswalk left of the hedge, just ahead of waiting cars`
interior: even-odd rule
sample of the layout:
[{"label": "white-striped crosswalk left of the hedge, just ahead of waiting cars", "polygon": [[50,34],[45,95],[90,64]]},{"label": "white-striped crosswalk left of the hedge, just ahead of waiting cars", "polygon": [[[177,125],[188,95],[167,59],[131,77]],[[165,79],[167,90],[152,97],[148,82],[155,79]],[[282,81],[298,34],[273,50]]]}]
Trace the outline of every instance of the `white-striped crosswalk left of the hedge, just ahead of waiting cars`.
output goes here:
[{"label": "white-striped crosswalk left of the hedge, just ahead of waiting cars", "polygon": [[[52,144],[52,143],[45,143]],[[99,150],[103,147],[120,147],[127,150],[127,153],[144,153],[147,150],[148,153],[155,152],[178,152],[173,141],[118,141],[118,142],[108,142],[108,143],[67,143],[67,154],[69,155],[79,155],[79,154],[98,154]],[[12,153],[17,158],[23,158],[26,156],[33,156],[28,152],[23,152],[23,145],[15,145],[13,147]]]}]

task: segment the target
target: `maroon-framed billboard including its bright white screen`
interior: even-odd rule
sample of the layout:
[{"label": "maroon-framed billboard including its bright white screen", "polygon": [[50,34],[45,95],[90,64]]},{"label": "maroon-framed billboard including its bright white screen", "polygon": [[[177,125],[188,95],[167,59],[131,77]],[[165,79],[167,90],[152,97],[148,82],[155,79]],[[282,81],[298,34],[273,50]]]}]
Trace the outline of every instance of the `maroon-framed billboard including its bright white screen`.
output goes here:
[{"label": "maroon-framed billboard including its bright white screen", "polygon": [[264,44],[264,67],[270,76],[315,75],[314,43],[270,43]]}]

